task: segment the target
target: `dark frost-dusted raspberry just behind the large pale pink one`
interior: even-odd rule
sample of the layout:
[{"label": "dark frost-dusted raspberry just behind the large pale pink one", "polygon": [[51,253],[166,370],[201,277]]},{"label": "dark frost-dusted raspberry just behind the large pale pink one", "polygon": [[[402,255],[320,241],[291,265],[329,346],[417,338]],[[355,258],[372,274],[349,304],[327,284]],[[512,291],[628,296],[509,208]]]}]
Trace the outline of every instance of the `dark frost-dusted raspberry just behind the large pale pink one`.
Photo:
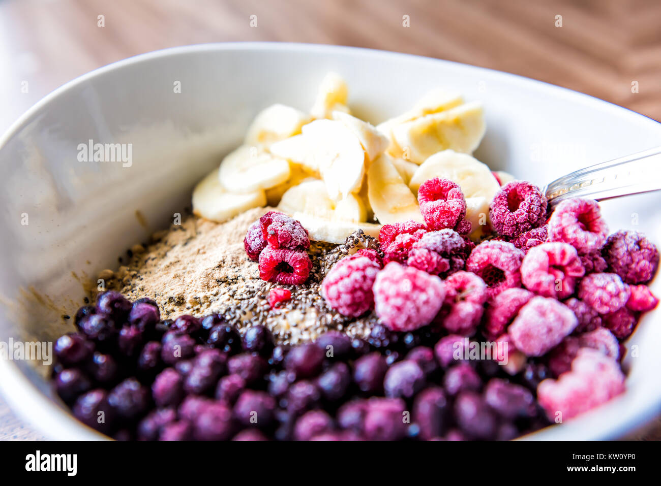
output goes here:
[{"label": "dark frost-dusted raspberry just behind the large pale pink one", "polygon": [[449,228],[428,232],[413,244],[407,264],[446,278],[463,270],[475,244]]}]

